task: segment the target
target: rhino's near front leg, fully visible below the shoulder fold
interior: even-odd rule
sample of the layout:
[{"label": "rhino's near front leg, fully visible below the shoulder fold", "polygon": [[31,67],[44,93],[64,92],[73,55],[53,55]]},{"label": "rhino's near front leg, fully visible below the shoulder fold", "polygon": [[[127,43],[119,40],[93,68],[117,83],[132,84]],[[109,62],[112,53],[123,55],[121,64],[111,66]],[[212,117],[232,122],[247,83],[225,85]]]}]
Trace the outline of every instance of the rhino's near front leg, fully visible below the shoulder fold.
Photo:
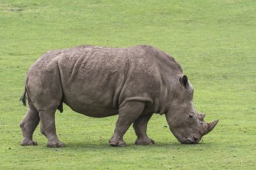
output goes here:
[{"label": "rhino's near front leg, fully visible below the shoulder fold", "polygon": [[123,141],[123,135],[126,133],[130,125],[140,117],[144,110],[144,102],[140,101],[127,101],[122,107],[119,108],[119,117],[116,121],[116,129],[114,135],[109,140],[109,145],[112,146],[125,146],[126,142]]}]

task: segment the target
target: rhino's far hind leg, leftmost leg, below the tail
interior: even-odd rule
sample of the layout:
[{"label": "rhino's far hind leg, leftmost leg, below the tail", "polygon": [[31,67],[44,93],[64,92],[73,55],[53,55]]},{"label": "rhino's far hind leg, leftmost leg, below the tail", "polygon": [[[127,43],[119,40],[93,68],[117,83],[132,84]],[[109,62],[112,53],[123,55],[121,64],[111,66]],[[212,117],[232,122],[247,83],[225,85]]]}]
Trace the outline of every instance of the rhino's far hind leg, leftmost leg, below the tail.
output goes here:
[{"label": "rhino's far hind leg, leftmost leg, below the tail", "polygon": [[25,117],[19,124],[22,129],[23,138],[20,142],[22,146],[37,145],[36,141],[33,141],[33,132],[40,122],[39,113],[33,105],[29,104],[29,110],[26,112]]}]

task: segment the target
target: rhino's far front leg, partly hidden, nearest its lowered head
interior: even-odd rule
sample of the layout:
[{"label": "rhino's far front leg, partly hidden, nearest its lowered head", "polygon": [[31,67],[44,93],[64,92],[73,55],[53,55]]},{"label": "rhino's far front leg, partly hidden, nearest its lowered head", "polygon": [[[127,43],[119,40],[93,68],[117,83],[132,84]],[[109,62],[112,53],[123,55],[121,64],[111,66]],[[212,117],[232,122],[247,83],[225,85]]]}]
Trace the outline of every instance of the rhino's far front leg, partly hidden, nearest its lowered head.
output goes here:
[{"label": "rhino's far front leg, partly hidden, nearest its lowered head", "polygon": [[147,123],[153,114],[141,115],[134,123],[133,129],[137,135],[136,145],[152,145],[154,140],[147,136]]}]

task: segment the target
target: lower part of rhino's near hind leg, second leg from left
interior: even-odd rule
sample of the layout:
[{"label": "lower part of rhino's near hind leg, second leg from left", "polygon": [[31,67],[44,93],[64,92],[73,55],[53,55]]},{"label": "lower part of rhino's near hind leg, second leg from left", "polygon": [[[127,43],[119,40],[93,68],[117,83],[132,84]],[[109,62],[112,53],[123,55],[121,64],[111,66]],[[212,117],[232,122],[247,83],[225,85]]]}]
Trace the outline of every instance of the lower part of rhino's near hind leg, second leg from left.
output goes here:
[{"label": "lower part of rhino's near hind leg, second leg from left", "polygon": [[41,133],[47,137],[47,147],[58,148],[63,147],[64,144],[59,141],[56,134],[55,127],[55,111],[56,110],[45,110],[40,111],[40,121],[41,121]]}]

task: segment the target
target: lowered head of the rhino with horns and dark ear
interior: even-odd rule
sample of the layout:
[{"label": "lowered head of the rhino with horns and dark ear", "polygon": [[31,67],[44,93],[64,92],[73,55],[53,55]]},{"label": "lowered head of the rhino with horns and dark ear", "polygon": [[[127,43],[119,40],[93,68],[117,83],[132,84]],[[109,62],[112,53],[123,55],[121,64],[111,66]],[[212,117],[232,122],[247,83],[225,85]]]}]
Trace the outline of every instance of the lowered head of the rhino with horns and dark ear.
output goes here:
[{"label": "lowered head of the rhino with horns and dark ear", "polygon": [[203,118],[206,114],[199,114],[193,104],[194,89],[185,75],[176,79],[172,89],[174,97],[168,110],[166,119],[172,134],[182,144],[197,144],[202,136],[208,134],[219,120],[206,123]]}]

